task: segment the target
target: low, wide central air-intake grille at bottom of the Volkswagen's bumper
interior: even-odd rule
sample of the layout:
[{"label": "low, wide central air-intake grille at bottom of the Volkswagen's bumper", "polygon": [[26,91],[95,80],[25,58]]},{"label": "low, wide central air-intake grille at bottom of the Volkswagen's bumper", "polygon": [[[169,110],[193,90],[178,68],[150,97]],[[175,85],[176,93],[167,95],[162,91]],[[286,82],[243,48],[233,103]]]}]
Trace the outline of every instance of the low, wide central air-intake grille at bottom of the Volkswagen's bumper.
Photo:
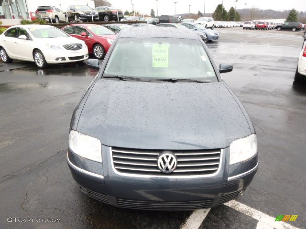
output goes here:
[{"label": "low, wide central air-intake grille at bottom of the Volkswagen's bumper", "polygon": [[210,208],[214,199],[201,201],[139,201],[117,198],[118,206],[133,209],[150,210],[193,210]]}]

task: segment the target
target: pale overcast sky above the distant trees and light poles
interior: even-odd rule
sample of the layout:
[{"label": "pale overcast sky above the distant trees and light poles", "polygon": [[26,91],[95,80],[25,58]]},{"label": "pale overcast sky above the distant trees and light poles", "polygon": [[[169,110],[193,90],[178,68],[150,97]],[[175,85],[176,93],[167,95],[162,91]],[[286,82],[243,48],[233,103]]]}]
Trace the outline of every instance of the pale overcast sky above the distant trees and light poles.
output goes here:
[{"label": "pale overcast sky above the distant trees and light poles", "polygon": [[[135,11],[139,13],[150,14],[151,9],[154,9],[156,15],[156,0],[108,0],[113,7],[121,9],[123,11],[132,11],[132,2]],[[174,4],[174,2],[177,2]],[[174,14],[174,5],[176,14],[198,13],[200,10],[204,13],[204,2],[205,2],[205,13],[213,13],[218,4],[222,4],[222,0],[158,0],[158,14]],[[244,5],[244,4],[247,5]],[[229,11],[233,6],[235,8],[235,0],[223,0],[224,8]],[[306,0],[289,0],[289,1],[275,1],[275,0],[238,0],[236,9],[246,8],[259,8],[259,9],[273,9],[278,11],[291,10],[292,8],[297,11],[306,11]]]}]

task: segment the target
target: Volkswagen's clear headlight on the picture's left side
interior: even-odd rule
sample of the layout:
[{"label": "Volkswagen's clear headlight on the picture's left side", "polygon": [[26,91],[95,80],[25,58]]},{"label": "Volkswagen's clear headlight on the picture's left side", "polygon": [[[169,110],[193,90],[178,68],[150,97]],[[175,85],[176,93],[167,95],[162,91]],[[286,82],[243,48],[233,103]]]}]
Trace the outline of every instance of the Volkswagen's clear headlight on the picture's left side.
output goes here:
[{"label": "Volkswagen's clear headlight on the picture's left side", "polygon": [[71,130],[69,148],[83,158],[102,163],[101,142],[97,138]]}]

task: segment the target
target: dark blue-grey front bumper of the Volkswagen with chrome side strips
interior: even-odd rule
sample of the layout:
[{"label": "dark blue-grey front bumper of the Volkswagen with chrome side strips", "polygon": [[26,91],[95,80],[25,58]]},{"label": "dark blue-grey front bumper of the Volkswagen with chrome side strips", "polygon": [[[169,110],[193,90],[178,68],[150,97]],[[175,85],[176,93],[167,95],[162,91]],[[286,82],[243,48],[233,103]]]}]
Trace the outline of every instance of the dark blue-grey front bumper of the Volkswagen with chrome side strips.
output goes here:
[{"label": "dark blue-grey front bumper of the Volkswagen with chrome side strips", "polygon": [[257,154],[246,162],[228,165],[229,148],[222,151],[214,176],[130,176],[114,171],[110,147],[102,145],[103,163],[90,161],[68,150],[67,162],[82,192],[101,202],[123,208],[192,210],[211,208],[236,198],[251,183]]}]

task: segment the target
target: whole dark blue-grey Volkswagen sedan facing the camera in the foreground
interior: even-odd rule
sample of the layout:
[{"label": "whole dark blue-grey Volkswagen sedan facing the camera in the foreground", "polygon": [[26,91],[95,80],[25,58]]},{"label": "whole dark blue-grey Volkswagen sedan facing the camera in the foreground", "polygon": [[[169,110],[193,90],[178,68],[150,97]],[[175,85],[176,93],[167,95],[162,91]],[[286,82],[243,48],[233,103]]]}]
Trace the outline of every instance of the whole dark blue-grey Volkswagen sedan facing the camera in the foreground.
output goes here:
[{"label": "whole dark blue-grey Volkswagen sedan facing the camera in the foreground", "polygon": [[122,30],[71,120],[67,161],[88,196],[135,209],[211,208],[258,167],[254,126],[205,43],[180,28]]}]

